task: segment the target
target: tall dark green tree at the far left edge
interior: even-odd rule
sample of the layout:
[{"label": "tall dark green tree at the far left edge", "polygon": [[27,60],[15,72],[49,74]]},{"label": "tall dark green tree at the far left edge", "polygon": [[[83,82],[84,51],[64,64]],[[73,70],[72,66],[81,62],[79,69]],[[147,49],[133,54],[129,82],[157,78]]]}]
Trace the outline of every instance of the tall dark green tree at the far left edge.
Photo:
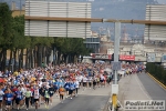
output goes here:
[{"label": "tall dark green tree at the far left edge", "polygon": [[6,69],[7,50],[12,43],[12,17],[9,6],[7,3],[0,3],[0,62],[1,70]]}]

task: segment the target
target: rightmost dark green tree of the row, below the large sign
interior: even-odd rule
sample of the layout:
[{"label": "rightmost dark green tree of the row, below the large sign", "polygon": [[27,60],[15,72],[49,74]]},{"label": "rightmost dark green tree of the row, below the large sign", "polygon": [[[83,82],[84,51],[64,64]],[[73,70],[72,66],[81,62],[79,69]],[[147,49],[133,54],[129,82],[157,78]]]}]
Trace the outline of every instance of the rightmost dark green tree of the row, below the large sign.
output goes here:
[{"label": "rightmost dark green tree of the row, below the large sign", "polygon": [[[63,54],[63,62],[74,62],[74,58],[79,58],[80,54],[84,56],[89,53],[89,49],[85,48],[83,39],[81,38],[55,38],[54,44],[59,50],[58,59],[60,54]],[[60,63],[60,61],[59,61]]]}]

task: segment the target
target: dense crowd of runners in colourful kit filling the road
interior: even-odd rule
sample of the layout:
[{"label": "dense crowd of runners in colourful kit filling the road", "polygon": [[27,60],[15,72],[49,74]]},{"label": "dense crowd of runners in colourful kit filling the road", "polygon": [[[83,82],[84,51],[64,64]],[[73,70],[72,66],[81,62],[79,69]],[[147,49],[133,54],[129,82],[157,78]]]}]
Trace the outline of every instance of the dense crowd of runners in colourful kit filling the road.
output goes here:
[{"label": "dense crowd of runners in colourful kit filling the road", "polygon": [[[21,108],[29,110],[32,107],[38,110],[40,105],[49,109],[49,105],[53,104],[53,95],[59,97],[63,103],[64,98],[77,97],[80,88],[95,90],[110,85],[113,73],[105,69],[111,69],[111,64],[100,62],[60,64],[0,72],[0,111]],[[122,69],[128,74],[145,68],[139,64],[123,64]]]}]

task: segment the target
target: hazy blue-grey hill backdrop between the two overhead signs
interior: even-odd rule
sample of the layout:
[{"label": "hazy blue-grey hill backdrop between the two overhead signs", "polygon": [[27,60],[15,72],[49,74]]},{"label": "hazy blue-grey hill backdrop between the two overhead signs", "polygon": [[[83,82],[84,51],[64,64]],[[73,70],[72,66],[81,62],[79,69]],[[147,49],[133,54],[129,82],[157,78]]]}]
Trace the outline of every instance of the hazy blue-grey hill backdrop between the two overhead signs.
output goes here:
[{"label": "hazy blue-grey hill backdrop between the two overhead signs", "polygon": [[[11,7],[12,1],[17,7],[24,4],[25,0],[0,0],[6,1]],[[20,2],[21,1],[21,2]],[[104,19],[145,19],[146,4],[157,4],[156,0],[50,0],[50,1],[77,1],[92,2],[92,18]],[[92,23],[92,29],[98,30],[98,27],[113,27],[112,23]],[[126,24],[127,28],[136,29],[144,28],[144,26]],[[132,32],[129,32],[132,34]],[[143,32],[142,32],[143,34]]]}]

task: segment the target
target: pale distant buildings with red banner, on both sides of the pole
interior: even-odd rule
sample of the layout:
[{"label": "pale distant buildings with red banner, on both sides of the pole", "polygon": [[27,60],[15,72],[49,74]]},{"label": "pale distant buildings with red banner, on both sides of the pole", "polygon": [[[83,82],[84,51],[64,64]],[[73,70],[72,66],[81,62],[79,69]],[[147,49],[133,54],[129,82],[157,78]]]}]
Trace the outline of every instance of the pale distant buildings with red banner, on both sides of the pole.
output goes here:
[{"label": "pale distant buildings with red banner, on both sides of the pole", "polygon": [[[113,54],[114,53],[114,42],[101,42],[100,53]],[[120,60],[121,61],[133,61],[133,62],[146,62],[147,54],[155,54],[155,62],[162,62],[162,57],[166,53],[166,46],[154,46],[153,43],[120,43]]]}]

